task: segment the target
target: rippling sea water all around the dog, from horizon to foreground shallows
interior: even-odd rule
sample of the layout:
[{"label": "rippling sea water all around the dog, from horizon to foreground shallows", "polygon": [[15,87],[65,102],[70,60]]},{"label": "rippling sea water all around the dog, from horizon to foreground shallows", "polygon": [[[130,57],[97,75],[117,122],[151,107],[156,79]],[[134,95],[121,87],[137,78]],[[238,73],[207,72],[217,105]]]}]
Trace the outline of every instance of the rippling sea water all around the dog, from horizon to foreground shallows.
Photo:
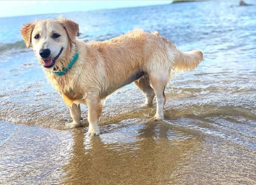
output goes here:
[{"label": "rippling sea water all around the dog, from horizon to foreground shallows", "polygon": [[[167,1],[166,1],[167,3]],[[199,1],[0,18],[0,184],[256,184],[256,3]],[[47,83],[22,24],[59,16],[80,38],[158,31],[204,61],[166,88],[165,120],[127,85],[103,105],[102,134],[87,137]],[[172,91],[173,89],[173,91]]]}]

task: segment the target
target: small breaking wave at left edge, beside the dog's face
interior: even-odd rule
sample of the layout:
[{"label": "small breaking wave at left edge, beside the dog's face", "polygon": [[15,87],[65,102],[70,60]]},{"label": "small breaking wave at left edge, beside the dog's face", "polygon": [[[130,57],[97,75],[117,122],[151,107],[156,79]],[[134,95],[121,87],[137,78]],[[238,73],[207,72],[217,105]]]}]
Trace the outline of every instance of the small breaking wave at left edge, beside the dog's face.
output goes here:
[{"label": "small breaking wave at left edge, beside the dog's face", "polygon": [[23,40],[17,41],[15,43],[0,43],[0,55],[8,53],[25,52],[26,50],[26,44]]}]

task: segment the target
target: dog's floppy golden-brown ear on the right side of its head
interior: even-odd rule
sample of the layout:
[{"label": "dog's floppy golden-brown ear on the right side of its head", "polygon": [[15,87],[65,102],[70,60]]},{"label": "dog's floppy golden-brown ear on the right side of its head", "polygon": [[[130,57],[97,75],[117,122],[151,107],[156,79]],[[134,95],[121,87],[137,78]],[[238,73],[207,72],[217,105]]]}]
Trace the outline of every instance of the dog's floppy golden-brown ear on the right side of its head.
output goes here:
[{"label": "dog's floppy golden-brown ear on the right side of its head", "polygon": [[76,36],[79,32],[78,24],[69,19],[59,18],[59,20],[61,21],[61,24],[68,35],[69,41],[75,44]]}]

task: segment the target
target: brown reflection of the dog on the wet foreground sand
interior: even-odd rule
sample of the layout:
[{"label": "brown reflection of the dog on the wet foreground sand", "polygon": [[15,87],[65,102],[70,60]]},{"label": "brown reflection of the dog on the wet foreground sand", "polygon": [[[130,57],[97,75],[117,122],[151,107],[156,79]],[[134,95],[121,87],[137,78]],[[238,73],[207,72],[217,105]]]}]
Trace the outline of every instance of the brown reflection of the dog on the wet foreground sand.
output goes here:
[{"label": "brown reflection of the dog on the wet foreground sand", "polygon": [[[202,138],[195,136],[194,139],[176,140],[176,132],[179,135],[181,132],[164,121],[141,125],[136,134],[127,136],[134,137],[134,142],[130,143],[121,143],[115,137],[108,138],[108,133],[88,137],[82,130],[73,131],[73,158],[63,167],[67,173],[64,183],[168,184],[169,176],[179,163],[186,162],[188,151],[193,152],[193,148],[200,147],[196,141]],[[121,128],[115,132],[123,131]]]}]

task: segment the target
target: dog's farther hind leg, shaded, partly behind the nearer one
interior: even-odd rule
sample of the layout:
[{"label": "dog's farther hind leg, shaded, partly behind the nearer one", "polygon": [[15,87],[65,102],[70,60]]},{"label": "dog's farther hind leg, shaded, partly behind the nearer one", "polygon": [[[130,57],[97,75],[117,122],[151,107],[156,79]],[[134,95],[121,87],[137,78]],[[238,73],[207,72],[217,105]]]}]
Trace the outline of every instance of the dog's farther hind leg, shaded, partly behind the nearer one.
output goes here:
[{"label": "dog's farther hind leg, shaded, partly behind the nearer one", "polygon": [[138,81],[134,81],[134,84],[145,95],[145,98],[146,98],[145,104],[151,104],[155,97],[155,92],[150,86],[150,80],[148,75],[142,76]]}]

